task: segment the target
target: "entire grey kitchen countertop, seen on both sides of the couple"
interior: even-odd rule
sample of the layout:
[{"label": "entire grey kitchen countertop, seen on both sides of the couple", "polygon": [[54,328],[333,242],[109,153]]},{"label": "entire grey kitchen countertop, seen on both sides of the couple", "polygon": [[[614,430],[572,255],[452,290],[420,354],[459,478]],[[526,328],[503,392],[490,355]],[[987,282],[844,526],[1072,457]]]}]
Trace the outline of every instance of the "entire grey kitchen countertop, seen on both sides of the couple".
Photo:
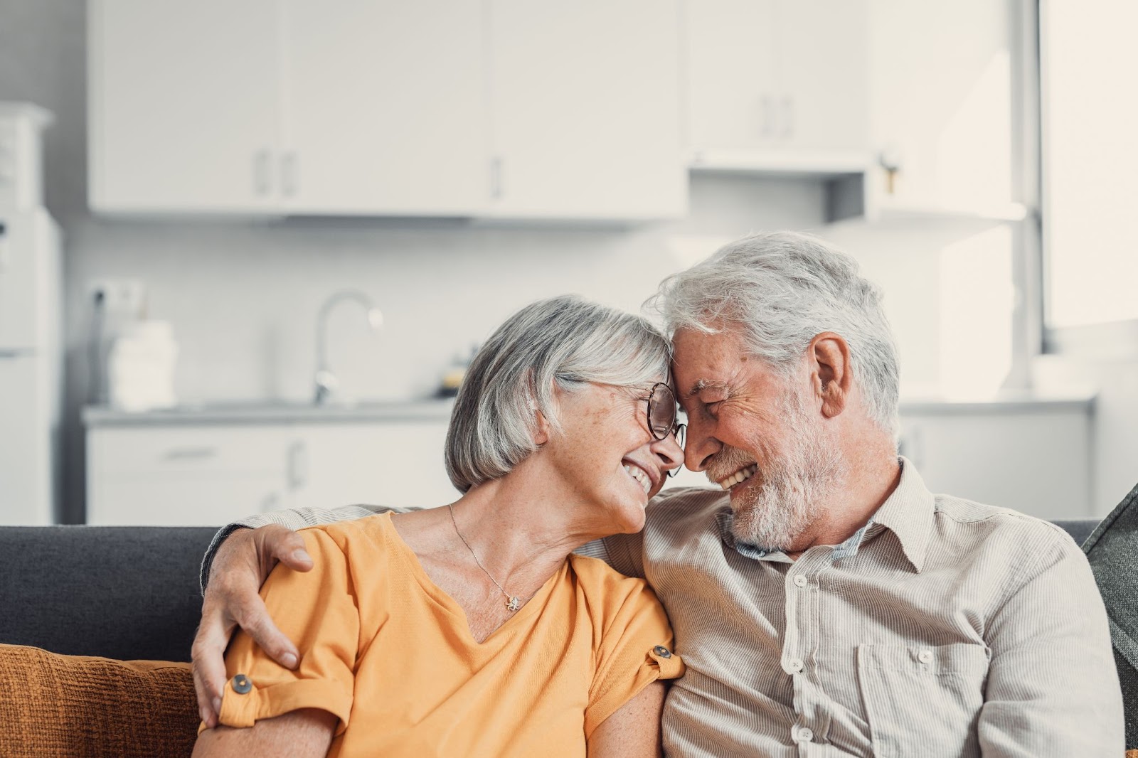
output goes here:
[{"label": "entire grey kitchen countertop, seen on both sides of the couple", "polygon": [[[1038,413],[1083,411],[1095,407],[1091,389],[1062,393],[1015,392],[987,398],[906,396],[901,415],[951,415],[957,413]],[[176,407],[133,413],[105,405],[83,409],[83,423],[96,427],[265,425],[437,421],[446,423],[454,407],[453,398],[369,401],[355,405],[313,405],[299,401],[244,401],[228,403],[188,403]]]}]

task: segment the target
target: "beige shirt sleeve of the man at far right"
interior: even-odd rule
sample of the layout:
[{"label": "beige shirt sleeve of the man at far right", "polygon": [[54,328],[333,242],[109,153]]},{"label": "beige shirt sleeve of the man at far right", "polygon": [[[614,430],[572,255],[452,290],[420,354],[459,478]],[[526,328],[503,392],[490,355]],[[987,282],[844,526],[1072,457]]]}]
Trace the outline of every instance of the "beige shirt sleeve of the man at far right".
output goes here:
[{"label": "beige shirt sleeve of the man at far right", "polygon": [[1122,694],[1106,610],[1066,535],[1039,545],[989,619],[984,758],[1121,756]]}]

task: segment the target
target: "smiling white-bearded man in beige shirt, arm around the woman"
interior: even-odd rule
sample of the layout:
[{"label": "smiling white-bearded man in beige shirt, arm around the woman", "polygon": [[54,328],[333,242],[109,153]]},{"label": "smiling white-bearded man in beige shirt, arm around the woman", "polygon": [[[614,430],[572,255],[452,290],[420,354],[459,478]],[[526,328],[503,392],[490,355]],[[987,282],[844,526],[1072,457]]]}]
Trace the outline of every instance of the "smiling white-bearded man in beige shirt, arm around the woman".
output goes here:
[{"label": "smiling white-bearded man in beige shirt, arm around the woman", "polygon": [[[665,491],[642,534],[599,547],[652,584],[687,664],[665,706],[669,755],[1122,755],[1086,558],[1053,525],[931,494],[898,459],[896,348],[850,257],[802,234],[749,237],[653,299],[685,463],[718,487]],[[195,642],[207,723],[234,624],[295,664],[256,594],[278,560],[311,566],[280,524],[372,510],[218,534]]]}]

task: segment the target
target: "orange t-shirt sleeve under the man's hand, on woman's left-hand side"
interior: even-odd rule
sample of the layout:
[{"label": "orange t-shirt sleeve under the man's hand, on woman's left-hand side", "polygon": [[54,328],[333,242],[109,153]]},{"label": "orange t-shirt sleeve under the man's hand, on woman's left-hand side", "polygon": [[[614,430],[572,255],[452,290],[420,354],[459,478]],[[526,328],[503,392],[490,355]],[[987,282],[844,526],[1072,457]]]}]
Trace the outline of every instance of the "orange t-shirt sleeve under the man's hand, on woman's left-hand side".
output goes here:
[{"label": "orange t-shirt sleeve under the man's hand, on woman's left-hand side", "polygon": [[360,612],[344,551],[323,529],[300,532],[312,555],[310,571],[279,565],[261,587],[278,628],[296,644],[300,665],[289,670],[273,661],[248,634],[238,632],[225,653],[229,681],[220,720],[253,726],[262,718],[300,708],[337,716],[336,734],[348,723],[360,645]]}]

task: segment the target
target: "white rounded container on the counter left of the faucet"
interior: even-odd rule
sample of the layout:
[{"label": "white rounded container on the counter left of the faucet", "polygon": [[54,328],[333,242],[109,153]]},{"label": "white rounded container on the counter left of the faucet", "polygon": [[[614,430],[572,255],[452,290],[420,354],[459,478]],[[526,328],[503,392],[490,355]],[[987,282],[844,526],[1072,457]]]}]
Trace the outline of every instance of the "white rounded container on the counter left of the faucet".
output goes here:
[{"label": "white rounded container on the counter left of the faucet", "polygon": [[152,411],[178,405],[174,366],[178,343],[168,321],[124,324],[107,357],[108,401],[121,411]]}]

